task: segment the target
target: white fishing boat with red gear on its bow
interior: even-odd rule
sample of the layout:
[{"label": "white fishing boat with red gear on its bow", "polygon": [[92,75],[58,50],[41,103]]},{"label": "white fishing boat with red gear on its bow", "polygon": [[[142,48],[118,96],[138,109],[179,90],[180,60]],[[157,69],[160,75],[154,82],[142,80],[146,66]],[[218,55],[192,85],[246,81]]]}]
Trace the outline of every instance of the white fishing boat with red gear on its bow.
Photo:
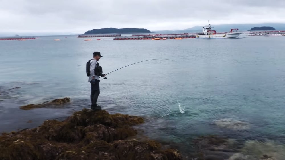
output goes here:
[{"label": "white fishing boat with red gear on its bow", "polygon": [[200,34],[196,34],[196,38],[238,38],[242,32],[237,32],[239,29],[231,29],[229,33],[216,33],[215,30],[212,30],[210,22],[207,27],[203,27],[203,32]]}]

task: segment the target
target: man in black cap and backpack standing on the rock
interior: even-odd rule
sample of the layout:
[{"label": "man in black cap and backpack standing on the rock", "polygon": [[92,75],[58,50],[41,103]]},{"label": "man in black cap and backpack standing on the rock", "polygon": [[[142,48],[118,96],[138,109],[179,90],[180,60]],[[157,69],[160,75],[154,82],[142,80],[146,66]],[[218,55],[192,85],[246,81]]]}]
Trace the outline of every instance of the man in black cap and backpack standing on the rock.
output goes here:
[{"label": "man in black cap and backpack standing on the rock", "polygon": [[[87,75],[89,75],[88,81],[91,83],[91,109],[96,111],[102,110],[102,108],[97,105],[98,96],[100,94],[99,76],[105,77],[105,74],[102,74],[102,67],[98,63],[101,57],[101,53],[95,51],[93,52],[93,59],[87,62]],[[88,67],[90,67],[89,74]]]}]

